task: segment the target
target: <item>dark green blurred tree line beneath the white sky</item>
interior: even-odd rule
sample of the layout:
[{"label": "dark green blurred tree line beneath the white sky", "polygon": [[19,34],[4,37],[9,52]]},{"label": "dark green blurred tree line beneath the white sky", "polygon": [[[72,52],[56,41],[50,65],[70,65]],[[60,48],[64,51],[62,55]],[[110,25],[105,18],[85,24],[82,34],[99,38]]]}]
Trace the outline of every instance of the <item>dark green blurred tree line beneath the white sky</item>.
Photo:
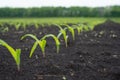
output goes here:
[{"label": "dark green blurred tree line beneath the white sky", "polygon": [[0,17],[120,17],[120,6],[0,8]]}]

